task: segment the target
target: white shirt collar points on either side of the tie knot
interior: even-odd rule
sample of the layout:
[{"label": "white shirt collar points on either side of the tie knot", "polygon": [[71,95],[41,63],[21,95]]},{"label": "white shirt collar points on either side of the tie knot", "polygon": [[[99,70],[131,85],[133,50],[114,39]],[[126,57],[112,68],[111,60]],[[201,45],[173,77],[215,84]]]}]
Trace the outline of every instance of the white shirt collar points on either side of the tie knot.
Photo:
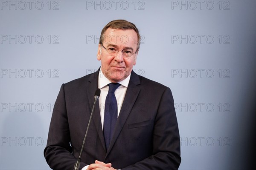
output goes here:
[{"label": "white shirt collar points on either side of the tie knot", "polygon": [[[119,84],[121,84],[122,86],[128,87],[129,81],[131,78],[131,74],[128,75],[127,78],[125,78],[124,80],[118,82]],[[98,77],[98,88],[101,89],[104,86],[107,86],[108,84],[110,84],[111,81],[108,80],[108,78],[105,77],[105,75],[102,73],[102,69],[100,67],[99,69],[99,77]]]}]

